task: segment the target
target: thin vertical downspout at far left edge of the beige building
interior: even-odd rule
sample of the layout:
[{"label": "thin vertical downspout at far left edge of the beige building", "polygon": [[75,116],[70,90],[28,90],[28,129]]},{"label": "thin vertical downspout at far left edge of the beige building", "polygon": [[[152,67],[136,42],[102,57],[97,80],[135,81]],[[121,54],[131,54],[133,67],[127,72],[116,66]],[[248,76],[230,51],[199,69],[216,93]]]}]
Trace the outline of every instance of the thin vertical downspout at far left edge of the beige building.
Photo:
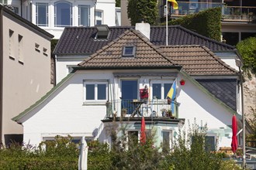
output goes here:
[{"label": "thin vertical downspout at far left edge of the beige building", "polygon": [[[2,15],[3,15],[3,8],[2,6],[0,6],[0,144],[2,143],[2,101],[3,101],[3,19],[2,19]],[[0,149],[1,149],[1,145],[0,145]]]}]

